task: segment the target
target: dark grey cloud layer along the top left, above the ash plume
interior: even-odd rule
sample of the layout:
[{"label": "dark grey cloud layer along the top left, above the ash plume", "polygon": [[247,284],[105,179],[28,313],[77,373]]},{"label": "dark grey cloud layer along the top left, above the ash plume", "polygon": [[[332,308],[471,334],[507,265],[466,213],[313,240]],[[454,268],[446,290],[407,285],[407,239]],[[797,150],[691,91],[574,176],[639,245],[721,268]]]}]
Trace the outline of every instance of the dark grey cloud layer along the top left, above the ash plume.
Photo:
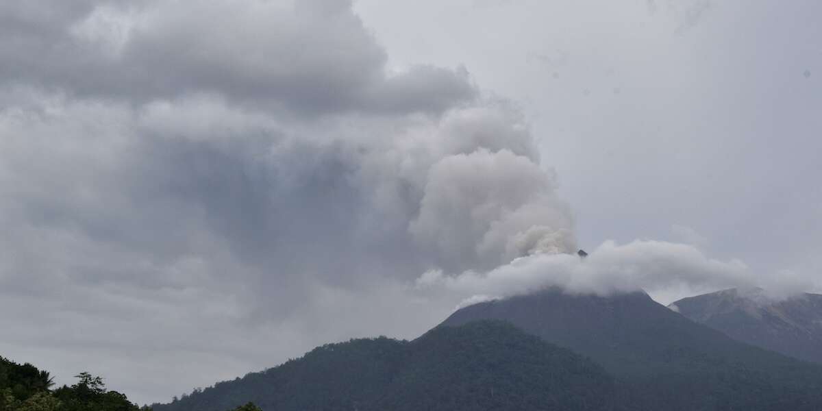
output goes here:
[{"label": "dark grey cloud layer along the top left, above the ash plume", "polygon": [[7,2],[0,78],[145,102],[213,92],[305,113],[439,112],[475,95],[467,73],[386,72],[348,2]]}]

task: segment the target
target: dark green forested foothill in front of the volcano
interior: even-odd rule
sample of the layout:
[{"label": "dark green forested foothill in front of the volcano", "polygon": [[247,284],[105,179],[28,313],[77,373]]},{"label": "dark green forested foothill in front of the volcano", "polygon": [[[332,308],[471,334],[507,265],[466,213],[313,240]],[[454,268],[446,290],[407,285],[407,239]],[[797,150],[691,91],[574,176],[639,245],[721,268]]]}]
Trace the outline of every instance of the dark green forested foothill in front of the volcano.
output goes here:
[{"label": "dark green forested foothill in front of the volcano", "polygon": [[438,327],[410,342],[326,344],[153,408],[225,411],[248,401],[266,411],[635,409],[603,367],[502,321]]}]

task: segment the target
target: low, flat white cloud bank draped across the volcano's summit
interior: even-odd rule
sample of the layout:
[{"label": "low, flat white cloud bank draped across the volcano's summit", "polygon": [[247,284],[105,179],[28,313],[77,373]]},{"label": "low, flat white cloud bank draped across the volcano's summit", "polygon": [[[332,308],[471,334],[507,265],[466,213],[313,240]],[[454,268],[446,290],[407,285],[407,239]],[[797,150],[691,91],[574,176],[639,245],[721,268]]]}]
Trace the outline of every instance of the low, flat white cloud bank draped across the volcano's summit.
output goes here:
[{"label": "low, flat white cloud bank draped across the volcano's summit", "polygon": [[[581,258],[571,254],[524,256],[487,272],[445,275],[430,270],[417,279],[418,289],[442,288],[468,297],[505,298],[549,287],[567,293],[612,295],[676,288],[750,287],[755,276],[738,260],[718,261],[697,248],[676,242],[607,241]],[[475,297],[479,296],[479,297]]]}]

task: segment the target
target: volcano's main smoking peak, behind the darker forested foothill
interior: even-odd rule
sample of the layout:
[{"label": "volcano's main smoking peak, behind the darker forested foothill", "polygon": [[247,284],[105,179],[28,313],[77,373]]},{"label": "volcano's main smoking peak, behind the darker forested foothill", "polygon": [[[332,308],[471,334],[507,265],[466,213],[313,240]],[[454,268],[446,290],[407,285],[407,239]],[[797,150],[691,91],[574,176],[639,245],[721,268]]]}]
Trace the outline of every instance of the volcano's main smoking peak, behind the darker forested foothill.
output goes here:
[{"label": "volcano's main smoking peak, behind the darker forested foothill", "polygon": [[589,356],[648,409],[822,409],[822,367],[731,339],[645,293],[548,289],[464,307],[441,326],[489,319]]}]

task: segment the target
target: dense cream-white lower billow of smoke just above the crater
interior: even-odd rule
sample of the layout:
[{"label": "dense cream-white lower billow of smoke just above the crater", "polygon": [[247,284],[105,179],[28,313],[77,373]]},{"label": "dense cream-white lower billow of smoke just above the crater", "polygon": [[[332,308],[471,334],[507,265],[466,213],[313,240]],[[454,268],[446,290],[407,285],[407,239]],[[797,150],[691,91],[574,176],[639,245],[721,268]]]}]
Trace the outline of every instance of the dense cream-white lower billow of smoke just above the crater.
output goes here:
[{"label": "dense cream-white lower billow of smoke just above the crater", "polygon": [[409,230],[449,268],[490,269],[519,256],[572,252],[570,210],[555,190],[552,173],[510,150],[452,155],[428,173]]}]

